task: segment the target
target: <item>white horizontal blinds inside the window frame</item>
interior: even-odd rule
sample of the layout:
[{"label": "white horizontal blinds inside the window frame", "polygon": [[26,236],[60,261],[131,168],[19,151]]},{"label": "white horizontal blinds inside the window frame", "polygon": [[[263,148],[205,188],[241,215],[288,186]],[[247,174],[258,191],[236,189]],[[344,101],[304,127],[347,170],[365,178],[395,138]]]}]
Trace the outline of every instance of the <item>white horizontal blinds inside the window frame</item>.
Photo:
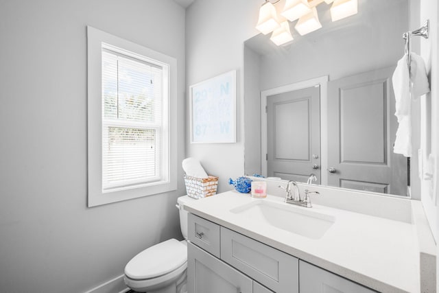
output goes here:
[{"label": "white horizontal blinds inside the window frame", "polygon": [[103,192],[161,180],[165,76],[159,65],[102,49]]}]

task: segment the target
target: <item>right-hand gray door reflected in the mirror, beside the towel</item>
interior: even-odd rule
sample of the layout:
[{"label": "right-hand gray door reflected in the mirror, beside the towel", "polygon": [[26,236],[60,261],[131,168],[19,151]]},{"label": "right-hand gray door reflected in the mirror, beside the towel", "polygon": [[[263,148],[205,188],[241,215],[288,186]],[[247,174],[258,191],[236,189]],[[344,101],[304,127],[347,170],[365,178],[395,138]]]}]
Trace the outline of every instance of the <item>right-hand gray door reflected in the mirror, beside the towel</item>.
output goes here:
[{"label": "right-hand gray door reflected in the mirror, beside the towel", "polygon": [[397,121],[390,77],[394,68],[328,84],[328,183],[407,195],[407,159],[394,154]]}]

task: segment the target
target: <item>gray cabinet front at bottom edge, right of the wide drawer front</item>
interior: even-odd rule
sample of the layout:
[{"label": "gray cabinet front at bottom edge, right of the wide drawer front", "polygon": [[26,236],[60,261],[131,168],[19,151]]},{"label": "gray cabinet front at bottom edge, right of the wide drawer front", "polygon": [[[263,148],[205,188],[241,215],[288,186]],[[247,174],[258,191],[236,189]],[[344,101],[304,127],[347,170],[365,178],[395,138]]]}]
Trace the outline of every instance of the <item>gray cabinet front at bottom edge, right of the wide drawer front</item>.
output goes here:
[{"label": "gray cabinet front at bottom edge, right of the wide drawer front", "polygon": [[353,283],[336,274],[299,261],[300,293],[372,293],[362,285]]}]

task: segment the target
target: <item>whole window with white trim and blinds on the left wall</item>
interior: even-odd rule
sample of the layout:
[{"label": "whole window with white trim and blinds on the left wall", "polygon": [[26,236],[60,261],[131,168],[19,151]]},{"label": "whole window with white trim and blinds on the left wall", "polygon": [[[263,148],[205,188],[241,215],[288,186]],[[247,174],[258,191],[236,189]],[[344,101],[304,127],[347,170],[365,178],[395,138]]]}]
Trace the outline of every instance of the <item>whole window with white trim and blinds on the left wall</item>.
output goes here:
[{"label": "whole window with white trim and blinds on the left wall", "polygon": [[87,33],[88,207],[175,190],[176,60]]}]

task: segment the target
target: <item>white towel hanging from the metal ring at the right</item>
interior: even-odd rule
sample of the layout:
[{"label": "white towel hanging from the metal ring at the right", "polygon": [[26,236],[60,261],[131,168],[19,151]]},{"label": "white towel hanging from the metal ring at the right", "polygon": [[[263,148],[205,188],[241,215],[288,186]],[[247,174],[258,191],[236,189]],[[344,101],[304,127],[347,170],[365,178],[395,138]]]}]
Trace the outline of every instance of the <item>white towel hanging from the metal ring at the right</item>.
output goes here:
[{"label": "white towel hanging from the metal ring at the right", "polygon": [[392,76],[396,100],[395,116],[398,119],[398,130],[393,147],[395,154],[412,156],[412,97],[416,99],[430,91],[427,71],[422,57],[410,54],[410,72],[407,66],[407,55],[398,61]]}]

